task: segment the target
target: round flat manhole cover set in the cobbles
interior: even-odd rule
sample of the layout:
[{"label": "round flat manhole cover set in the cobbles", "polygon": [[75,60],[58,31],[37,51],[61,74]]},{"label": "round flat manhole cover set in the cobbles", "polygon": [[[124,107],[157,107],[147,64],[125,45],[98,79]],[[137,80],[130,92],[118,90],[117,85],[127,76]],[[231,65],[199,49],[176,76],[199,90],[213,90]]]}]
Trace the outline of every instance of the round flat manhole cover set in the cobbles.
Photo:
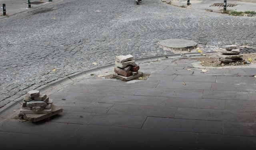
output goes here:
[{"label": "round flat manhole cover set in the cobbles", "polygon": [[197,45],[194,41],[183,39],[166,39],[159,41],[158,44],[168,48],[189,48]]}]

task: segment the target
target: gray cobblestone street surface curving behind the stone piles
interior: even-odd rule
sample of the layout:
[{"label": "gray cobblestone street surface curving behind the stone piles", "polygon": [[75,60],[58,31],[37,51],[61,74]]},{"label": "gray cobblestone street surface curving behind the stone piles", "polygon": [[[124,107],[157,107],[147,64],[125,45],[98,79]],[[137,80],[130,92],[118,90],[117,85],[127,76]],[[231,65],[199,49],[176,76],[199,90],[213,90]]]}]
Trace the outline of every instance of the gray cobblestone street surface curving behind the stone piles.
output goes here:
[{"label": "gray cobblestone street surface curving behind the stone piles", "polygon": [[0,107],[58,78],[112,63],[116,55],[172,53],[157,45],[166,38],[256,46],[256,18],[160,0],[64,0],[1,20],[0,28]]}]

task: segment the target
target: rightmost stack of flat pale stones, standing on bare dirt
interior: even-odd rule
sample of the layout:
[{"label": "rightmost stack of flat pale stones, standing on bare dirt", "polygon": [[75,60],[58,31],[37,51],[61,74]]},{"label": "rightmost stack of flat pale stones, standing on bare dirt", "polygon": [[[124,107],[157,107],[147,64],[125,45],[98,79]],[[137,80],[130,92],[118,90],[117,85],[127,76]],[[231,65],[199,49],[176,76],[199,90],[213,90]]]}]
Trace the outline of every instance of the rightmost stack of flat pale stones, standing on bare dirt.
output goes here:
[{"label": "rightmost stack of flat pale stones, standing on bare dirt", "polygon": [[240,54],[240,50],[236,49],[237,45],[225,45],[220,48],[219,52],[221,53],[219,55],[220,61],[229,63],[229,62],[235,62],[237,60],[243,60],[242,55]]}]

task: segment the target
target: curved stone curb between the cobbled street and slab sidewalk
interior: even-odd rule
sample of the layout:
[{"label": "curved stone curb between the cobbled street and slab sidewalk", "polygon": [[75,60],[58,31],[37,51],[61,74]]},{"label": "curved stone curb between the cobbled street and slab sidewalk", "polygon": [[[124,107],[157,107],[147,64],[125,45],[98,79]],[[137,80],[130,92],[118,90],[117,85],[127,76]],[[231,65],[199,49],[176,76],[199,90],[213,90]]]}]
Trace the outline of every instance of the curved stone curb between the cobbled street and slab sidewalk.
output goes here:
[{"label": "curved stone curb between the cobbled street and slab sidewalk", "polygon": [[[198,53],[197,55],[194,54],[193,56],[199,56],[199,55],[201,55],[201,54]],[[182,58],[182,57],[183,56],[181,54],[167,54],[167,55],[158,55],[158,56],[151,56],[151,57],[145,57],[145,58],[138,58],[135,60],[138,62],[138,64],[142,64],[142,63],[146,63],[146,62],[158,61],[159,59],[166,60],[166,59]],[[43,93],[48,92],[48,93],[52,94],[53,92],[56,92],[56,91],[64,88],[65,86],[73,84],[74,81],[76,81],[76,80],[80,80],[80,79],[84,78],[85,76],[89,76],[91,73],[97,74],[99,72],[109,70],[109,68],[112,68],[112,67],[114,67],[114,63],[106,64],[106,65],[103,65],[100,67],[95,67],[95,68],[92,68],[90,70],[83,71],[83,72],[76,72],[76,73],[70,74],[68,76],[65,76],[63,78],[60,78],[58,80],[52,81],[43,86],[40,86],[40,87],[36,88],[35,90],[40,90],[40,92],[43,92]],[[4,112],[5,110],[7,110],[7,108],[10,108],[11,106],[14,106],[15,104],[18,104],[18,103],[21,104],[21,102],[25,96],[26,96],[26,94],[20,96],[19,98],[15,99],[13,101],[10,101],[8,104],[6,104],[2,108],[0,108],[0,113]]]}]

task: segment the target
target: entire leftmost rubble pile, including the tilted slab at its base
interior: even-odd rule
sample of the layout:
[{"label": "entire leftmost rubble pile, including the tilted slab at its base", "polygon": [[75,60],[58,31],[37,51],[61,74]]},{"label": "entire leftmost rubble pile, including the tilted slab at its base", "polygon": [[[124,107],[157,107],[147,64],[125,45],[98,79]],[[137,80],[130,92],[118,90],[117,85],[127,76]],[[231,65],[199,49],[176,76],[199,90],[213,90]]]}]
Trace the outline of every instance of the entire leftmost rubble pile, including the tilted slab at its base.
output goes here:
[{"label": "entire leftmost rubble pile, including the tilted slab at its base", "polygon": [[49,99],[46,94],[41,94],[38,90],[31,90],[23,98],[20,114],[24,119],[36,122],[49,118],[62,112],[62,108],[53,105],[53,100]]}]

